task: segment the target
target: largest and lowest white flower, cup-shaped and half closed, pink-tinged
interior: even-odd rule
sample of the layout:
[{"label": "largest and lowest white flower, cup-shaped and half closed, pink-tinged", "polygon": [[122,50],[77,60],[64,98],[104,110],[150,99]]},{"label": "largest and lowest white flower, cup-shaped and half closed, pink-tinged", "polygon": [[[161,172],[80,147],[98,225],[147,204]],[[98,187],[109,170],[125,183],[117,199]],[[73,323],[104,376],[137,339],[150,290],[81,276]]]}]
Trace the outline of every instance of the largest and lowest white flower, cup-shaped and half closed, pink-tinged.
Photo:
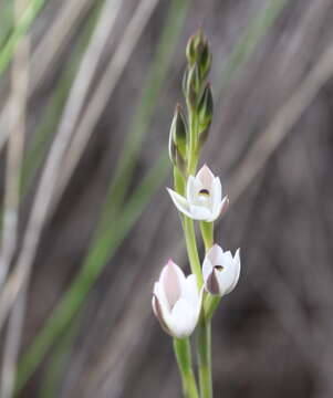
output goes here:
[{"label": "largest and lowest white flower, cup-shaped and half closed, pink-tinged", "polygon": [[197,277],[185,277],[171,260],[163,268],[154,285],[153,310],[163,329],[173,337],[188,337],[195,329],[201,310],[202,293]]}]

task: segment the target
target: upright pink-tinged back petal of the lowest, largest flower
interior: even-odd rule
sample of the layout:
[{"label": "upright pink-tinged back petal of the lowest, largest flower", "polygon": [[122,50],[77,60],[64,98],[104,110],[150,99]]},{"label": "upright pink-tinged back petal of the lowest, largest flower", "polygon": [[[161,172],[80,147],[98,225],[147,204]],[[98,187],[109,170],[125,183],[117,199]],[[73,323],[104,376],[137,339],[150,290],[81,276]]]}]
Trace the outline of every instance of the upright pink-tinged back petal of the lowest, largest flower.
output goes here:
[{"label": "upright pink-tinged back petal of the lowest, largest flower", "polygon": [[181,284],[185,275],[180,268],[171,260],[163,268],[159,283],[163,286],[169,307],[173,307],[181,295]]}]

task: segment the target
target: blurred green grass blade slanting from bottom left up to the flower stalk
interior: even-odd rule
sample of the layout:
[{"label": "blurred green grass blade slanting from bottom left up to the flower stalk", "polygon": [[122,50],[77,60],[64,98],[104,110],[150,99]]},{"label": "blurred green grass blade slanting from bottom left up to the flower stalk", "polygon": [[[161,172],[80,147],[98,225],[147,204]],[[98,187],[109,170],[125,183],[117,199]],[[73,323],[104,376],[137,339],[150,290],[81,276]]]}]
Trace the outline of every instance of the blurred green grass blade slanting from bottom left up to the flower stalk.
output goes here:
[{"label": "blurred green grass blade slanting from bottom left up to the flower stalk", "polygon": [[128,200],[118,222],[116,224],[110,223],[108,230],[105,231],[103,237],[98,239],[94,248],[90,251],[75,281],[63,295],[52,315],[20,362],[17,390],[20,390],[24,386],[50,346],[73,320],[104,265],[114,255],[116,249],[142,214],[156,189],[165,180],[168,170],[167,165],[167,156],[163,156],[157,160],[156,165],[150,169]]}]

